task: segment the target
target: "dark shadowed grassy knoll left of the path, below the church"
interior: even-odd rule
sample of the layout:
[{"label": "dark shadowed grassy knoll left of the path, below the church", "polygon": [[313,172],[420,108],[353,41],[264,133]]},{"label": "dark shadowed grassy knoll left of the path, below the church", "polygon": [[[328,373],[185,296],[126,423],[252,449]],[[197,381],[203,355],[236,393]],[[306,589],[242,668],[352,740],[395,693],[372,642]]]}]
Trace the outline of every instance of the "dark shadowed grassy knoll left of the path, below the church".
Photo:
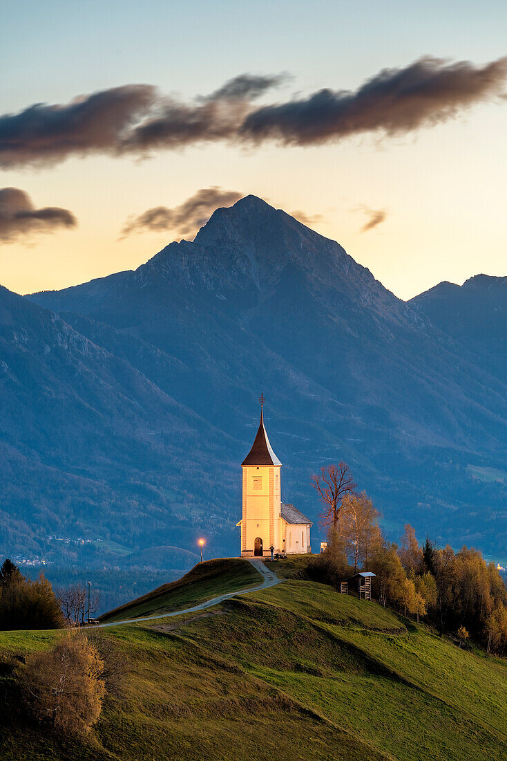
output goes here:
[{"label": "dark shadowed grassy knoll left of the path, below the church", "polygon": [[261,584],[262,577],[248,560],[229,558],[199,563],[177,581],[163,584],[152,592],[100,616],[102,622],[154,616],[191,608],[211,597],[236,592]]}]

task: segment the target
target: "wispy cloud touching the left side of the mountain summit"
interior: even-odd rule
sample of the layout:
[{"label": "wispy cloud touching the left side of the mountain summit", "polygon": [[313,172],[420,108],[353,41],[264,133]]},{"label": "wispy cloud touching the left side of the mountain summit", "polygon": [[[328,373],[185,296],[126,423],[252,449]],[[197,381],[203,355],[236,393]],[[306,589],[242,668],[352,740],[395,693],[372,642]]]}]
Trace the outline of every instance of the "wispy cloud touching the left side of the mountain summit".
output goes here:
[{"label": "wispy cloud touching the left side of the mountain summit", "polygon": [[173,209],[155,206],[154,209],[148,209],[138,217],[129,219],[122,230],[122,236],[141,230],[152,230],[170,232],[178,239],[194,237],[215,209],[230,206],[242,196],[243,194],[237,193],[236,190],[223,190],[216,186],[202,188]]}]

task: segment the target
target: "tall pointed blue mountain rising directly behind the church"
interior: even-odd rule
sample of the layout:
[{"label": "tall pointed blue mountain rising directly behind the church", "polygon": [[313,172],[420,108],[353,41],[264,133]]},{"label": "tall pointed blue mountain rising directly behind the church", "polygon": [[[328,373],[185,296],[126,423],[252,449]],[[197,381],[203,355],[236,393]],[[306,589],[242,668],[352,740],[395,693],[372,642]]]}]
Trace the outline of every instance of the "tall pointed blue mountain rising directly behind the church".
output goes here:
[{"label": "tall pointed blue mountain rising directly behind the church", "polygon": [[[344,459],[392,537],[410,521],[422,536],[507,553],[505,376],[336,242],[261,199],[217,209],[193,242],[170,244],[135,272],[25,301],[59,314],[124,372],[143,377],[151,409],[160,398],[171,400],[176,419],[195,416],[188,448],[173,441],[174,460],[167,449],[150,478],[172,482],[175,514],[185,512],[182,494],[187,504],[209,500],[203,530],[216,516],[228,530],[217,550],[236,549],[239,463],[263,391],[284,463],[283,497],[315,522],[310,476]],[[160,417],[160,435],[164,425]],[[134,438],[126,457],[111,453],[105,482],[107,467],[116,473],[136,446]],[[138,488],[143,479],[141,469]],[[112,489],[122,501],[120,479]],[[161,506],[161,529],[170,533],[173,521]],[[118,524],[115,541],[129,530]]]}]

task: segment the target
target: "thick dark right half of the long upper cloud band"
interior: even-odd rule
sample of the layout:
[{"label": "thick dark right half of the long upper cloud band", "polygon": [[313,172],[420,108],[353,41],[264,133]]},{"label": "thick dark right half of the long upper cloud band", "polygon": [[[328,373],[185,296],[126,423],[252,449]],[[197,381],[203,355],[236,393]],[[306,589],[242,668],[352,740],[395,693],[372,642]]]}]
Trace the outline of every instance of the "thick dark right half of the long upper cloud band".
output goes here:
[{"label": "thick dark right half of the long upper cloud band", "polygon": [[476,67],[423,58],[386,68],[355,92],[321,90],[300,100],[265,106],[246,116],[245,139],[314,145],[362,132],[395,135],[455,116],[474,103],[501,96],[507,58]]}]

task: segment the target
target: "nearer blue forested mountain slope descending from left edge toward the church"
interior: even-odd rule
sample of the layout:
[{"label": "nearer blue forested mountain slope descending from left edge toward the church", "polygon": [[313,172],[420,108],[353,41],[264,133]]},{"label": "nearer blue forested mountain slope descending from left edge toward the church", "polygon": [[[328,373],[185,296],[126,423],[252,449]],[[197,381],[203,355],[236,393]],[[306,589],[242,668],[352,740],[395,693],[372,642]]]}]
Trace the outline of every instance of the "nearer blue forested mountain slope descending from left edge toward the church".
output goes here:
[{"label": "nearer blue forested mountain slope descending from left edge toward the church", "polygon": [[[230,440],[124,358],[5,288],[0,388],[2,552],[102,565],[160,536],[193,547],[204,510],[211,536],[227,533],[201,464],[223,467]],[[192,565],[183,554],[171,568]]]}]

